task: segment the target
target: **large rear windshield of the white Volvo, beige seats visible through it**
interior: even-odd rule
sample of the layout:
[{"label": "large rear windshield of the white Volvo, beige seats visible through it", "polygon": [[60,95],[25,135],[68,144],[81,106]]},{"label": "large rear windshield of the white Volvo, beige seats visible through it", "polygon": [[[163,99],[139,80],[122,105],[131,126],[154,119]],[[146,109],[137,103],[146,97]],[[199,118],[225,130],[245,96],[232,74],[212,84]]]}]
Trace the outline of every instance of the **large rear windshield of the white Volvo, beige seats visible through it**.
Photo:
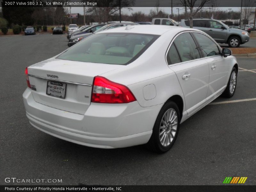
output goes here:
[{"label": "large rear windshield of the white Volvo, beige seats visible through it", "polygon": [[137,59],[158,38],[134,33],[94,34],[76,44],[58,59],[127,65]]}]

